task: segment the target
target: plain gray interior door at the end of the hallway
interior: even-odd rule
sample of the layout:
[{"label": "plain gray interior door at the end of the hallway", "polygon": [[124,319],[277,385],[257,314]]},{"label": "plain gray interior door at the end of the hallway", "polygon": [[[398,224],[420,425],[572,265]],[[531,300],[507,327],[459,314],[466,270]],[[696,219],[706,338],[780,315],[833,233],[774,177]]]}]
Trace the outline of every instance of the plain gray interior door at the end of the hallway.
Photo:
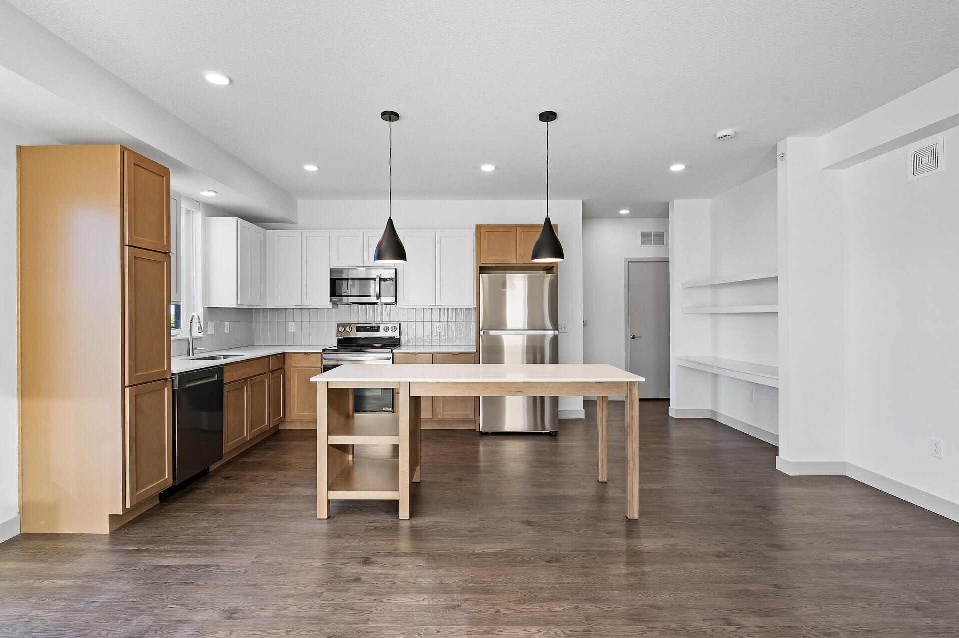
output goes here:
[{"label": "plain gray interior door at the end of the hallway", "polygon": [[669,397],[669,262],[626,265],[629,287],[626,343],[629,371],[646,378],[640,398]]}]

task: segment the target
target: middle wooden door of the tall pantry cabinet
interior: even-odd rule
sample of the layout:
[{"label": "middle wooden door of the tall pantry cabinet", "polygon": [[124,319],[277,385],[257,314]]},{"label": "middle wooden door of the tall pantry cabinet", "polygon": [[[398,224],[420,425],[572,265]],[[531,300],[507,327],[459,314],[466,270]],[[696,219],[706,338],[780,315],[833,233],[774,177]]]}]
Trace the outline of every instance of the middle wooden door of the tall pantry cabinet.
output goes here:
[{"label": "middle wooden door of the tall pantry cabinet", "polygon": [[172,376],[170,255],[124,248],[124,384]]}]

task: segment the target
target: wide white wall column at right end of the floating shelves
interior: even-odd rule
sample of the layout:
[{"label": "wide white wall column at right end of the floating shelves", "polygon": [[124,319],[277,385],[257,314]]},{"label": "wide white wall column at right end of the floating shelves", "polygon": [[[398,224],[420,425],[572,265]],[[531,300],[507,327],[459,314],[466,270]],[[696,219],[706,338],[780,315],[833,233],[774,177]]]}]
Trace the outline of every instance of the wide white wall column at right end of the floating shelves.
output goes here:
[{"label": "wide white wall column at right end of the floating shelves", "polygon": [[786,474],[845,474],[843,175],[819,138],[779,144],[779,456]]}]

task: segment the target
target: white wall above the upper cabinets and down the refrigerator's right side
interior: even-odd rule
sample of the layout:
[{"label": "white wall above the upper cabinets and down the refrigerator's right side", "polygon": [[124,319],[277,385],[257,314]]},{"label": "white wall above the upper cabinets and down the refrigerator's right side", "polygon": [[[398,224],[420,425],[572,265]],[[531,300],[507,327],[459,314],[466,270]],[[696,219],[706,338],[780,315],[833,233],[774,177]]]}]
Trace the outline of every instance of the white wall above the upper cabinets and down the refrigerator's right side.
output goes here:
[{"label": "white wall above the upper cabinets and down the refrigerator's right side", "polygon": [[[393,201],[393,223],[404,229],[473,229],[476,224],[543,224],[544,201],[423,200]],[[559,320],[569,332],[559,337],[562,363],[583,361],[583,204],[550,201],[550,219],[558,226],[566,261],[559,264]],[[383,200],[302,200],[298,224],[264,224],[265,228],[382,228]],[[582,397],[560,397],[562,416],[583,414]]]}]

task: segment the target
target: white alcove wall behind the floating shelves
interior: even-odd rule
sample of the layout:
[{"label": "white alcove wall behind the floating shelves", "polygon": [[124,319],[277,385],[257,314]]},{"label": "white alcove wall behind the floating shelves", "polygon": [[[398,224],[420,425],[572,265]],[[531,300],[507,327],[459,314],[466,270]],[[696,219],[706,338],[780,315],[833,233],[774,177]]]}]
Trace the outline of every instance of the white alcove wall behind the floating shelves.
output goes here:
[{"label": "white alcove wall behind the floating shelves", "polygon": [[[773,169],[710,202],[713,276],[776,272],[776,181]],[[777,290],[776,281],[717,286],[713,303],[775,304]],[[777,366],[778,320],[776,315],[713,315],[713,355]],[[779,391],[775,388],[730,377],[715,379],[712,410],[719,414],[776,434],[778,409]]]}]

